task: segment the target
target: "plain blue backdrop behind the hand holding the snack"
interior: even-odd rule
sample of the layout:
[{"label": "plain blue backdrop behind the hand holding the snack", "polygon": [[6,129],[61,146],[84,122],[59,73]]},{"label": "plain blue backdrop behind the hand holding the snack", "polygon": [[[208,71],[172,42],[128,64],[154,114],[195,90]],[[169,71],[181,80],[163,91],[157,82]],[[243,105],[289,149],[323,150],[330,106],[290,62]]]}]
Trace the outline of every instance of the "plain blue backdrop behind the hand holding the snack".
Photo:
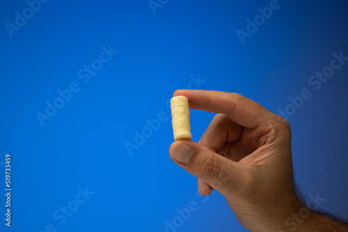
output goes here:
[{"label": "plain blue backdrop behind the hand holding the snack", "polygon": [[[348,217],[348,61],[319,90],[308,83],[332,53],[348,56],[348,3],[280,0],[242,44],[236,31],[269,2],[175,0],[154,14],[147,0],[48,1],[11,37],[6,23],[29,5],[1,1],[0,183],[4,192],[9,153],[13,192],[10,228],[1,194],[0,231],[52,223],[56,231],[161,232],[191,201],[198,210],[177,231],[246,231],[219,192],[198,197],[196,177],[168,156],[167,99],[190,87],[239,92],[274,113],[307,89],[310,99],[288,119],[296,179],[304,194],[325,199],[320,208]],[[118,52],[84,83],[77,72],[109,45]],[[73,82],[79,91],[41,126],[36,114]],[[159,113],[159,128],[127,151]],[[191,110],[193,140],[213,116]],[[94,193],[60,224],[55,211],[85,187]]]}]

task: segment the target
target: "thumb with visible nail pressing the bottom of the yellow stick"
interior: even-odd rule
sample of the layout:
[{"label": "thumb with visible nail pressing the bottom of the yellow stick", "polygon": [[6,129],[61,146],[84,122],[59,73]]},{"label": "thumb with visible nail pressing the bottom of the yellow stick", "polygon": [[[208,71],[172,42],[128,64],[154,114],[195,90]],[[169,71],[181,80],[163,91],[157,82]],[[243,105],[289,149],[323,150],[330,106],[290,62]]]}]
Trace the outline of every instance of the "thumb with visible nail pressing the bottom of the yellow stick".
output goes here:
[{"label": "thumb with visible nail pressing the bottom of the yellow stick", "polygon": [[236,181],[239,164],[214,153],[202,144],[189,140],[173,142],[169,154],[177,165],[225,196],[238,186]]}]

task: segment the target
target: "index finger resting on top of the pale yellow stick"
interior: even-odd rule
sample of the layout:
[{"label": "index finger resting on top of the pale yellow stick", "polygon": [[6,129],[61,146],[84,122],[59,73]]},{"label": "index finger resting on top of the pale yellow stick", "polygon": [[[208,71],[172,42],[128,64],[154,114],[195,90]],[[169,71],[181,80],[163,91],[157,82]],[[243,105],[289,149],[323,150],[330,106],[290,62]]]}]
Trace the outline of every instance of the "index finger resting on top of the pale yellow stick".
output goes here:
[{"label": "index finger resting on top of the pale yellow stick", "polygon": [[176,90],[173,97],[179,95],[189,99],[191,109],[223,113],[233,122],[248,128],[257,127],[260,122],[264,122],[271,114],[259,103],[232,92]]}]

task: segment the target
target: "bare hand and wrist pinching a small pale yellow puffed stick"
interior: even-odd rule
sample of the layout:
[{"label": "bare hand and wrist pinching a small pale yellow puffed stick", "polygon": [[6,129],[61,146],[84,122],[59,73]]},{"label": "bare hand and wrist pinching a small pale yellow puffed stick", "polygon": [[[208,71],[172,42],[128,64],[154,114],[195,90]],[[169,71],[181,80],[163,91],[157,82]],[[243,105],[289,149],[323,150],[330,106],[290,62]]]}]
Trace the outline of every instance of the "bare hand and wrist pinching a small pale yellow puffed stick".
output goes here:
[{"label": "bare hand and wrist pinching a small pale yellow puffed stick", "polygon": [[[240,94],[177,90],[173,97],[179,95],[191,109],[218,113],[199,143],[180,140],[169,149],[177,165],[197,176],[200,194],[221,192],[249,231],[348,231],[297,196],[285,119]],[[288,224],[300,213],[304,219]]]}]

